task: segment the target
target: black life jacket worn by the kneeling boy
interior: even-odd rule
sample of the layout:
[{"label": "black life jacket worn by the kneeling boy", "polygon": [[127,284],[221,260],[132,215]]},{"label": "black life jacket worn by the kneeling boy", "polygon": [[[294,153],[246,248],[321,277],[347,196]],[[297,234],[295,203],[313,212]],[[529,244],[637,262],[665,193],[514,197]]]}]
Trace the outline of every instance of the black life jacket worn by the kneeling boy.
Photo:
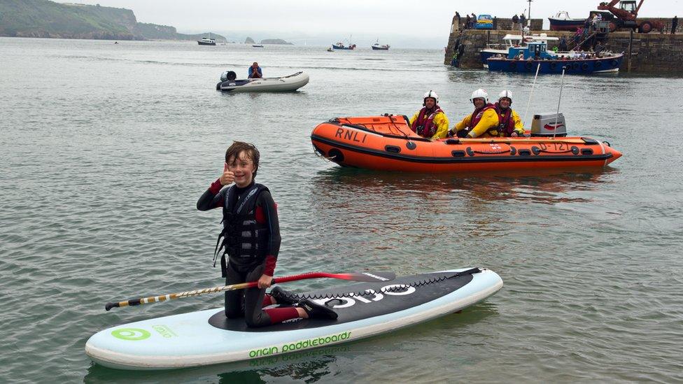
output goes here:
[{"label": "black life jacket worn by the kneeling boy", "polygon": [[[224,250],[220,258],[220,270],[223,277],[227,276],[225,255],[236,266],[253,266],[263,262],[269,242],[268,227],[256,221],[256,199],[258,195],[267,191],[265,185],[254,183],[248,190],[237,197],[237,186],[233,185],[225,194],[223,204],[223,231],[218,235],[213,266],[220,250]],[[223,238],[223,242],[220,239]],[[220,242],[220,246],[218,243]]]}]

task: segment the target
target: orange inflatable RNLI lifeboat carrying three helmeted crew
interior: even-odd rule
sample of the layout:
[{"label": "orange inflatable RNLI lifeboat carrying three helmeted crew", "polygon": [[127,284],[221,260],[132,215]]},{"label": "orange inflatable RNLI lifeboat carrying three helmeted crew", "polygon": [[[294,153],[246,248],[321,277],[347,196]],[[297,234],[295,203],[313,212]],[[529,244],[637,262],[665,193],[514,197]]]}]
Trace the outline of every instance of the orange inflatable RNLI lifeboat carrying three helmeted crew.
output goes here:
[{"label": "orange inflatable RNLI lifeboat carrying three helmeted crew", "polygon": [[470,172],[603,167],[621,157],[588,137],[444,138],[411,131],[400,115],[335,118],[311,134],[318,153],[341,166],[380,171]]}]

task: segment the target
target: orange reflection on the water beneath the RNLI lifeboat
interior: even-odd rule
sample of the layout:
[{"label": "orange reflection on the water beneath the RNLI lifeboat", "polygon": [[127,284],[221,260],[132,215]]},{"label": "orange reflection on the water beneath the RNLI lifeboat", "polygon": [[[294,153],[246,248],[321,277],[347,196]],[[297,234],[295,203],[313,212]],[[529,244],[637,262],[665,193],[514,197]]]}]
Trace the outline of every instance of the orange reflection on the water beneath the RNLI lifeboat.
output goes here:
[{"label": "orange reflection on the water beneath the RNLI lifeboat", "polygon": [[[491,201],[534,201],[543,204],[586,201],[589,197],[572,192],[595,190],[609,183],[616,169],[582,169],[572,171],[521,170],[485,175],[449,173],[397,173],[335,167],[319,172],[314,178],[311,204],[321,207],[344,206],[344,197],[356,199],[358,194],[377,202],[395,201],[417,196],[429,197],[429,203],[446,199],[466,200],[469,204]],[[389,199],[390,198],[390,199]],[[347,206],[351,205],[348,202]],[[423,204],[428,206],[429,204]]]}]

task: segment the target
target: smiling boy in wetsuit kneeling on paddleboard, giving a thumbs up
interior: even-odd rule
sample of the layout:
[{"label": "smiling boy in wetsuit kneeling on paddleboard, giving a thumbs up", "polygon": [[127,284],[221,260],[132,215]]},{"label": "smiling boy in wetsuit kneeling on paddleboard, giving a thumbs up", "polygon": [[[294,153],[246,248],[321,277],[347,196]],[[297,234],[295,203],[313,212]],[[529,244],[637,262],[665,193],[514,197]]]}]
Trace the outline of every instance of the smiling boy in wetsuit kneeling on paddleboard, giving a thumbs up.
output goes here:
[{"label": "smiling boy in wetsuit kneeling on paddleboard, giving a thumbs up", "polygon": [[[273,197],[265,185],[254,181],[259,158],[253,144],[232,143],[225,152],[223,174],[197,201],[199,211],[223,209],[223,231],[218,236],[220,246],[217,242],[214,262],[223,252],[220,269],[225,284],[258,281],[258,287],[225,292],[225,315],[244,316],[248,327],[265,327],[295,318],[334,320],[337,313],[331,308],[309,299],[297,301],[293,294],[279,287],[266,294],[266,288],[272,284],[281,239]],[[263,308],[273,304],[287,306]]]}]

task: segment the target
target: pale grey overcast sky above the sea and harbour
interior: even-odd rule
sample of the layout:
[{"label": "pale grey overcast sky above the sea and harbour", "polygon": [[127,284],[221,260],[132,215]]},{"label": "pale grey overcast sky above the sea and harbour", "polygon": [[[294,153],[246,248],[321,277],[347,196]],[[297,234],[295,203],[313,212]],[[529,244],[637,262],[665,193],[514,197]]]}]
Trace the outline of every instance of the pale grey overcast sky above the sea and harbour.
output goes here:
[{"label": "pale grey overcast sky above the sea and harbour", "polygon": [[[379,38],[412,41],[408,45],[439,48],[446,45],[451,17],[456,10],[512,17],[529,6],[525,0],[474,1],[389,1],[389,0],[72,0],[72,3],[99,3],[101,6],[128,8],[139,22],[172,25],[181,33],[215,31],[234,36],[258,34],[254,38],[278,37],[315,41],[316,36],[348,40]],[[534,0],[531,16],[545,19],[558,10],[571,17],[586,17],[600,0]],[[558,4],[562,4],[558,6]],[[646,0],[640,15],[650,17],[683,16],[683,0]],[[271,36],[277,34],[279,36]],[[268,36],[267,36],[268,35]],[[226,36],[230,37],[230,36]],[[335,41],[328,41],[333,43]],[[325,44],[327,44],[325,43]]]}]

